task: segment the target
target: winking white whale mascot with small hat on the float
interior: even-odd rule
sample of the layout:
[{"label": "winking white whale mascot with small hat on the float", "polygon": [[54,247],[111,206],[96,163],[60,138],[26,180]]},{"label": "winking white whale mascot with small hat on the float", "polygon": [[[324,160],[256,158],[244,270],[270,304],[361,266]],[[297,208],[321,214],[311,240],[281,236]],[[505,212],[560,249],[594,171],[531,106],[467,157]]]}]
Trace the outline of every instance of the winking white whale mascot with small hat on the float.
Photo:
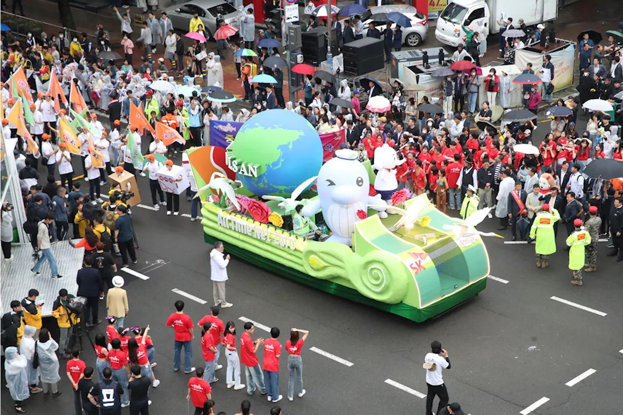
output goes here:
[{"label": "winking white whale mascot with small hat on the float", "polygon": [[[301,214],[313,216],[321,208],[326,226],[333,231],[330,242],[351,246],[354,224],[359,220],[357,211],[368,212],[368,204],[385,204],[379,194],[369,196],[368,171],[353,150],[337,150],[335,157],[320,168],[316,183],[318,199],[308,202]],[[387,217],[384,209],[377,210],[379,217]]]}]

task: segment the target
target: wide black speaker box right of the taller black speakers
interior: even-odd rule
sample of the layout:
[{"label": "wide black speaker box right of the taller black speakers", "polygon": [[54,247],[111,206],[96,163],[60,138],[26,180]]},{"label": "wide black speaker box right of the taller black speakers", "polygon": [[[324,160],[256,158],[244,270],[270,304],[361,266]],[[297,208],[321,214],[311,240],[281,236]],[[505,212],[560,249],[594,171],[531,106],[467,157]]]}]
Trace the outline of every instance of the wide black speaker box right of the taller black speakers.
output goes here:
[{"label": "wide black speaker box right of the taller black speakers", "polygon": [[382,69],[385,65],[383,41],[374,37],[364,37],[348,42],[342,47],[344,72],[355,75],[368,74]]}]

